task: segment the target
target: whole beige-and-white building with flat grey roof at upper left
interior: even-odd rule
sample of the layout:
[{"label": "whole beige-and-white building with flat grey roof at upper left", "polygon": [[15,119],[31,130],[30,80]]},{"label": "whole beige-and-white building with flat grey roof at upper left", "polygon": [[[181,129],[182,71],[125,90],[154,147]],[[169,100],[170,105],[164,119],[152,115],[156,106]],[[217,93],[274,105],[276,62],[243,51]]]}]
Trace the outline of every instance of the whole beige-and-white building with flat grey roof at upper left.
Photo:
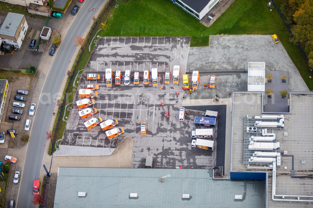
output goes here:
[{"label": "whole beige-and-white building with flat grey roof at upper left", "polygon": [[28,24],[25,15],[9,12],[0,27],[0,37],[3,44],[20,48],[27,29]]}]

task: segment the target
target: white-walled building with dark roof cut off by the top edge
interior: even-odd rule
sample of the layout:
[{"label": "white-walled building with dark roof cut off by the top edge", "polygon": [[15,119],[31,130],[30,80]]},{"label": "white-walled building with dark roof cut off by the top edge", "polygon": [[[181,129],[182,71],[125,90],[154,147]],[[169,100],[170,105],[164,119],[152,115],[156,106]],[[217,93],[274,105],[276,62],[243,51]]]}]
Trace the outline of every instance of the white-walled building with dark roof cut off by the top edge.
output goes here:
[{"label": "white-walled building with dark roof cut off by the top edge", "polygon": [[183,10],[201,20],[219,0],[171,0]]}]

